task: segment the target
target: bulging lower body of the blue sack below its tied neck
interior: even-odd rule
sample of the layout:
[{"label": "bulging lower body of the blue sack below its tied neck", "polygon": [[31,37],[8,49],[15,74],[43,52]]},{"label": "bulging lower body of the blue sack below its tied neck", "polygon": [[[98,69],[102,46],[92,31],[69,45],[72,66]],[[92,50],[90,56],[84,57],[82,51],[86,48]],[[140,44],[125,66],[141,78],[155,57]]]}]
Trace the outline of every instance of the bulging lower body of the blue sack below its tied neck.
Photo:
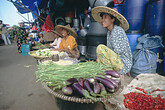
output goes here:
[{"label": "bulging lower body of the blue sack below its tied neck", "polygon": [[135,50],[133,53],[133,66],[131,75],[133,77],[144,73],[156,73],[157,55],[148,49]]}]

